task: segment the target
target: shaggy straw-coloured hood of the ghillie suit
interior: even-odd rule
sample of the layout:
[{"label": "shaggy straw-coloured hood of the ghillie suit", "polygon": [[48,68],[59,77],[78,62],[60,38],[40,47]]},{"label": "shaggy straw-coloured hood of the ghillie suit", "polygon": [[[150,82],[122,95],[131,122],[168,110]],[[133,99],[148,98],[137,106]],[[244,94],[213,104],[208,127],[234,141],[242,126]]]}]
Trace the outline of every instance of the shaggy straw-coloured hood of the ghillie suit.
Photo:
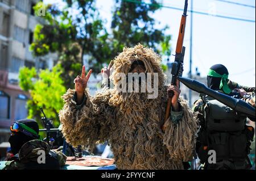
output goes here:
[{"label": "shaggy straw-coloured hood of the ghillie suit", "polygon": [[[131,65],[134,61],[140,60],[146,68],[146,73],[158,73],[158,96],[156,99],[148,99],[148,92],[120,92],[118,91],[118,83],[120,80],[118,74],[129,73]],[[112,75],[114,89],[109,104],[113,107],[119,107],[119,111],[123,113],[124,120],[128,121],[134,128],[134,124],[142,123],[146,117],[146,113],[150,112],[154,115],[156,123],[160,124],[160,117],[156,116],[161,98],[166,94],[164,89],[165,75],[161,67],[161,57],[150,48],[144,48],[141,44],[133,48],[124,48],[114,59],[114,73]],[[154,86],[154,77],[151,78],[151,87]],[[133,87],[134,88],[134,87]],[[139,87],[141,90],[141,87]],[[165,92],[164,92],[165,91]],[[151,117],[151,116],[150,116]]]}]

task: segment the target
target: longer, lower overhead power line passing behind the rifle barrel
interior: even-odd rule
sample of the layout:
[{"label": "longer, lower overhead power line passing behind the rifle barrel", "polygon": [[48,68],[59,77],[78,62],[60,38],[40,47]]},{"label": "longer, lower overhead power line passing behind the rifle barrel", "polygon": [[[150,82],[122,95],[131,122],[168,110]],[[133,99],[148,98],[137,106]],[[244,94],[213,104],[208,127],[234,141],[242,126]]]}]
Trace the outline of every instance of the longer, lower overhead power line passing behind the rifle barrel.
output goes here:
[{"label": "longer, lower overhead power line passing behind the rifle barrel", "polygon": [[[149,6],[155,6],[155,7],[165,7],[165,8],[168,8],[168,9],[183,11],[183,9],[180,9],[178,7],[164,6],[164,5],[159,5],[159,4],[154,4],[154,3],[146,3],[146,2],[135,1],[135,0],[123,0],[123,1],[132,2],[132,3],[139,3],[139,4],[145,4],[145,5],[149,5]],[[232,20],[239,20],[239,21],[243,21],[243,22],[255,23],[255,20],[251,20],[251,19],[242,19],[242,18],[236,18],[236,17],[232,17],[232,16],[224,16],[224,15],[218,15],[218,14],[209,14],[207,12],[201,12],[201,11],[191,11],[191,10],[188,10],[188,11],[196,13],[196,14],[201,14],[201,15],[215,16],[215,17],[218,17],[218,18],[225,18],[225,19],[232,19]]]}]

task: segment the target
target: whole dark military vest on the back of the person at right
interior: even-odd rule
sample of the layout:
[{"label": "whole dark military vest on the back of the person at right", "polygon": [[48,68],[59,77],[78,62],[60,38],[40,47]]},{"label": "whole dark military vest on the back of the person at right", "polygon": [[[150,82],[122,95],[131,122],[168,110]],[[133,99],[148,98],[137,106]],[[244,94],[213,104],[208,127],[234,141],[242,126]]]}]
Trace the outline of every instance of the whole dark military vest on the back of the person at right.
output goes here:
[{"label": "whole dark military vest on the back of the person at right", "polygon": [[[201,98],[204,101],[205,122],[201,125],[203,128],[199,133],[199,158],[207,163],[208,151],[214,150],[217,163],[232,159],[235,169],[245,169],[245,159],[250,151],[250,140],[253,138],[248,134],[246,116],[210,96],[203,95]],[[237,165],[241,166],[238,168]]]}]

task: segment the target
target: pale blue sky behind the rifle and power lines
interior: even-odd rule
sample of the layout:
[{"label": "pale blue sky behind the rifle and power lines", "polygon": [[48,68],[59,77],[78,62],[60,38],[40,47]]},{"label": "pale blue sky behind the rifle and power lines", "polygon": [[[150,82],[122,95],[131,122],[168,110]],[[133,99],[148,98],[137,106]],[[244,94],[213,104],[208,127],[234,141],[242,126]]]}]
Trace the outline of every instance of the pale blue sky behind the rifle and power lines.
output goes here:
[{"label": "pale blue sky behind the rifle and power lines", "polygon": [[[255,6],[254,0],[229,0]],[[44,0],[46,3],[57,3],[61,0]],[[101,18],[106,20],[106,27],[110,28],[114,0],[97,0],[96,4]],[[160,1],[161,2],[161,1]],[[183,0],[162,0],[163,5],[183,9]],[[191,9],[189,0],[188,9]],[[255,9],[232,5],[230,3],[215,0],[193,0],[193,10],[215,13],[218,15],[232,16],[242,19],[255,20]],[[172,54],[175,53],[177,34],[181,14],[179,10],[162,8],[152,16],[155,18],[156,27],[168,25],[168,34],[172,35]],[[189,70],[190,50],[190,21],[191,12],[188,12],[187,27],[184,46],[186,53],[184,58],[184,75]],[[199,68],[202,76],[206,76],[208,69],[213,64],[223,64],[229,70],[229,78],[245,86],[255,86],[255,22],[242,22],[238,20],[217,18],[193,14],[193,49],[192,49],[192,73]],[[171,61],[174,56],[171,57]]]}]

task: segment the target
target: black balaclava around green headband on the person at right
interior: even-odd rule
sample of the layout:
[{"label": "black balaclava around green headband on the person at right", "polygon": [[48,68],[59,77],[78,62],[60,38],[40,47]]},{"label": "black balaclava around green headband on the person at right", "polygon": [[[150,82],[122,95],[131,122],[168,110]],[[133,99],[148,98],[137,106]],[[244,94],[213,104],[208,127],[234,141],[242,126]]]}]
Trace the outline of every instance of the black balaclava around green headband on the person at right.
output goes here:
[{"label": "black balaclava around green headband on the person at right", "polygon": [[[229,74],[228,69],[224,65],[216,64],[210,67],[211,70],[216,71],[218,74]],[[212,77],[207,75],[207,86],[212,90],[220,90],[220,77]]]}]

